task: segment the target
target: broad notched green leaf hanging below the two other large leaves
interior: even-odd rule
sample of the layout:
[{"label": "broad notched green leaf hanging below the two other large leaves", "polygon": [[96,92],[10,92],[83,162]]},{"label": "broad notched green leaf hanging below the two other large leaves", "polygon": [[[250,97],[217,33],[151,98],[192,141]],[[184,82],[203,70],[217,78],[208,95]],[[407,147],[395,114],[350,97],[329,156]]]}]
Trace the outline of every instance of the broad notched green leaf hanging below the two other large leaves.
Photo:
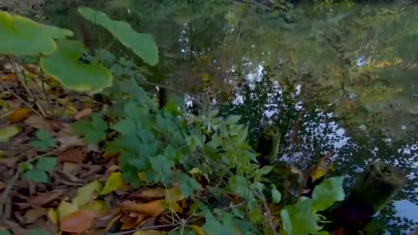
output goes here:
[{"label": "broad notched green leaf hanging below the two other large leaves", "polygon": [[85,48],[80,41],[58,41],[58,49],[41,58],[41,67],[61,82],[63,87],[75,91],[102,91],[112,84],[109,69],[98,62],[80,61]]}]

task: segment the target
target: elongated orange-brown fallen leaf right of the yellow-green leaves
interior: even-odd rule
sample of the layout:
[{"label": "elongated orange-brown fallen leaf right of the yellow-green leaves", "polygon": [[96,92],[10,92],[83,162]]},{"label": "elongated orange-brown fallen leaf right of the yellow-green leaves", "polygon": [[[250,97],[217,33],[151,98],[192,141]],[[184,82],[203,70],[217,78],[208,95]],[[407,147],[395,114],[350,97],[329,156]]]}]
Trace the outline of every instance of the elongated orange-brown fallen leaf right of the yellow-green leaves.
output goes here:
[{"label": "elongated orange-brown fallen leaf right of the yellow-green leaves", "polygon": [[151,201],[149,203],[135,203],[134,201],[123,201],[120,205],[122,210],[140,212],[144,214],[151,214],[151,216],[158,216],[165,210],[164,199]]}]

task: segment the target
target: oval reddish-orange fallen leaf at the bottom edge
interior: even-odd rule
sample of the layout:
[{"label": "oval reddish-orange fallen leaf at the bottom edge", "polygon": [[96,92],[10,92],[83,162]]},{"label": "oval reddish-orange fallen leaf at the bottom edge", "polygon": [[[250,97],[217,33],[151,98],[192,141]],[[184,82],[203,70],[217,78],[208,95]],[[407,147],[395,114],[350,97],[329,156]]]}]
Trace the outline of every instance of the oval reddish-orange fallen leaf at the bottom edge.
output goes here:
[{"label": "oval reddish-orange fallen leaf at the bottom edge", "polygon": [[80,233],[89,230],[93,225],[94,214],[87,210],[77,210],[65,216],[60,229],[63,232]]}]

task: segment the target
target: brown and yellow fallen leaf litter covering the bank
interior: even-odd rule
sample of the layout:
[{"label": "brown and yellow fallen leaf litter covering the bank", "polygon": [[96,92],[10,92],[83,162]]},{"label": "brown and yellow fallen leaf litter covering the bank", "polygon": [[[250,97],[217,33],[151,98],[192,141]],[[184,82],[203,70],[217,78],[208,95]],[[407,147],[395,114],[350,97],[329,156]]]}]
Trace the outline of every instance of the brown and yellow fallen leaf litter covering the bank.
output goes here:
[{"label": "brown and yellow fallen leaf litter covering the bank", "polygon": [[[23,68],[32,75],[34,98],[47,110],[41,89],[36,87],[39,67]],[[23,90],[17,78],[1,72],[0,78],[8,82],[10,89]],[[67,100],[80,98],[65,96]],[[58,94],[50,92],[50,98],[58,100]],[[42,112],[34,100],[22,102],[12,96],[6,100],[0,96],[0,100],[14,107],[8,113],[0,113],[0,192],[1,198],[6,196],[1,201],[5,218],[1,219],[0,227],[13,234],[107,234],[129,230],[137,235],[164,234],[151,228],[171,222],[164,214],[183,210],[184,195],[180,188],[146,186],[133,190],[124,183],[116,162],[118,155],[109,155],[100,146],[86,145],[72,131],[70,124],[74,120],[89,118],[92,110],[101,109],[91,106],[97,103],[86,98],[77,101],[83,105],[70,102],[63,116],[56,120],[40,115]],[[28,107],[28,103],[33,106]],[[97,122],[93,126],[100,132],[100,138],[106,125]],[[97,137],[87,136],[87,140]],[[10,182],[14,183],[8,188]],[[197,225],[190,229],[204,234]]]}]

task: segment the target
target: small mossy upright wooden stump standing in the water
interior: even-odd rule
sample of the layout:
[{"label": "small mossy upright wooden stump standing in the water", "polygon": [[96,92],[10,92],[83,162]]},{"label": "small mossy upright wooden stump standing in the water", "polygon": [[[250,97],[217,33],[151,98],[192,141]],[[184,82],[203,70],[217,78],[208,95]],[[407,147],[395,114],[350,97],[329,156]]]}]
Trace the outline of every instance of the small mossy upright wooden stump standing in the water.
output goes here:
[{"label": "small mossy upright wooden stump standing in the water", "polygon": [[261,166],[272,164],[277,160],[280,140],[281,133],[276,126],[267,125],[263,128],[256,146],[256,152],[260,154],[259,163]]}]

